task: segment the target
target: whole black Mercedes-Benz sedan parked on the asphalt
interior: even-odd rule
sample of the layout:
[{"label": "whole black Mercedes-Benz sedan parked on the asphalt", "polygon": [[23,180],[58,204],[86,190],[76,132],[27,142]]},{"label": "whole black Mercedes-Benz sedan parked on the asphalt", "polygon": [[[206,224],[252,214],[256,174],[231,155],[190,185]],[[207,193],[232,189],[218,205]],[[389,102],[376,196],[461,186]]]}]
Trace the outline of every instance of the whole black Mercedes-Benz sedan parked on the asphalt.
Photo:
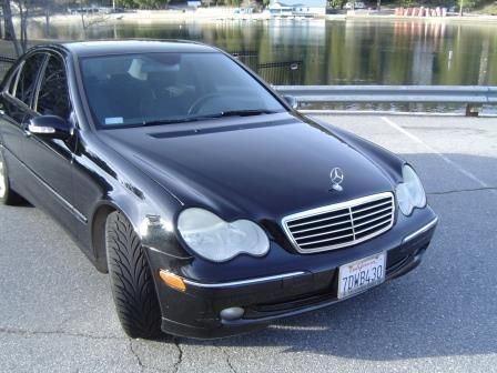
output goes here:
[{"label": "whole black Mercedes-Benz sedan parked on the asphalt", "polygon": [[109,272],[133,337],[236,334],[414,269],[437,216],[412,165],[292,103],[204,44],[37,47],[1,85],[0,200]]}]

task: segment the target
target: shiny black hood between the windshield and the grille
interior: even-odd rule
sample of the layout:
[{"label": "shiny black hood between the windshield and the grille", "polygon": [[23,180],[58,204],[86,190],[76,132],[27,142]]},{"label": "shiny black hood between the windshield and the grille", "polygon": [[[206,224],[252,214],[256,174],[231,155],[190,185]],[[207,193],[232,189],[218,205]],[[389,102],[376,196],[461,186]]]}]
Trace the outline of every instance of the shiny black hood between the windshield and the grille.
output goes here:
[{"label": "shiny black hood between the windshield and the grille", "polygon": [[[186,206],[276,219],[392,191],[387,174],[329,130],[290,114],[100,131]],[[343,190],[331,171],[343,170]]]}]

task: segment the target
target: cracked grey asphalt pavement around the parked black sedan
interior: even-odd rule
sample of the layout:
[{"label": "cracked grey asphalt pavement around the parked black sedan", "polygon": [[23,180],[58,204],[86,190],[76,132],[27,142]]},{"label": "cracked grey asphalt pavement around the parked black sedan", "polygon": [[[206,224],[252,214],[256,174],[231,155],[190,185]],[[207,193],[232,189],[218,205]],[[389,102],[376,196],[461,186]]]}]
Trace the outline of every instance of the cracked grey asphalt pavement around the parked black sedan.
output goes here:
[{"label": "cracked grey asphalt pavement around the parked black sedan", "polygon": [[0,371],[497,372],[497,119],[320,118],[416,167],[440,221],[414,272],[242,336],[131,340],[68,235],[0,206]]}]

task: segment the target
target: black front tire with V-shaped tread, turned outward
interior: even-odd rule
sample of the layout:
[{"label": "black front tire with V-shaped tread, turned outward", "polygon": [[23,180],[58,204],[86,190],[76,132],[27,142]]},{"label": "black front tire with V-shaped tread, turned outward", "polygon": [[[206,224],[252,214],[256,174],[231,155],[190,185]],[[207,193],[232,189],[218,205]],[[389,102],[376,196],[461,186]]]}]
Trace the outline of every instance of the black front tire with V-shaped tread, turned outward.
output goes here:
[{"label": "black front tire with V-shaped tread, turned outward", "polygon": [[161,309],[146,255],[133,226],[121,212],[105,225],[106,260],[119,320],[131,337],[158,339]]}]

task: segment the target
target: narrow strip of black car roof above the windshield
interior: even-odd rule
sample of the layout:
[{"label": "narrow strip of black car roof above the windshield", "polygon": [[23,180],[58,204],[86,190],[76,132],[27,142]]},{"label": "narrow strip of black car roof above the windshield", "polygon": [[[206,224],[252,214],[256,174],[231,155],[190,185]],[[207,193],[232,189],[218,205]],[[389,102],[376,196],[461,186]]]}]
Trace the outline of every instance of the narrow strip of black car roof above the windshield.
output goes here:
[{"label": "narrow strip of black car roof above the windshield", "polygon": [[60,47],[79,57],[154,52],[219,52],[219,50],[213,47],[185,40],[80,41],[62,43]]}]

